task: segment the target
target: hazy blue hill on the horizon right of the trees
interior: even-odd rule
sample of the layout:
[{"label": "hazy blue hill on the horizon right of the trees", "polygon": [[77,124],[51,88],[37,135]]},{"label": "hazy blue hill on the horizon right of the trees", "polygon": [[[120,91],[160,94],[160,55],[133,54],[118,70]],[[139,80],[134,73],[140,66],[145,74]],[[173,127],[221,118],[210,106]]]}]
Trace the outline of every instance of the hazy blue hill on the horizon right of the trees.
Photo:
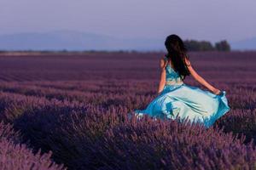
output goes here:
[{"label": "hazy blue hill on the horizon right of the trees", "polygon": [[256,37],[230,42],[230,45],[232,49],[237,50],[256,50]]}]

